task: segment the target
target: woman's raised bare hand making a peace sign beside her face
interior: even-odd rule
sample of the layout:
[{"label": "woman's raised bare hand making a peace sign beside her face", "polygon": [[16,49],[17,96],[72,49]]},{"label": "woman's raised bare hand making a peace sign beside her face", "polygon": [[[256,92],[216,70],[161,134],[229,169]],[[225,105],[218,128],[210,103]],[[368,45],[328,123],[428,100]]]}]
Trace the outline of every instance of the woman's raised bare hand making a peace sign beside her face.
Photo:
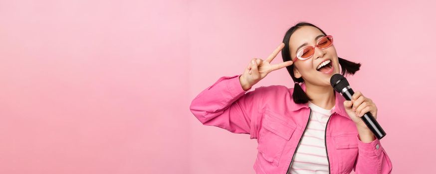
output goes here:
[{"label": "woman's raised bare hand making a peace sign beside her face", "polygon": [[266,58],[266,60],[256,58],[251,59],[251,62],[248,64],[244,73],[239,76],[239,82],[242,86],[242,89],[248,90],[254,84],[257,84],[257,82],[265,78],[268,73],[292,65],[292,61],[286,61],[279,64],[270,64],[284,46],[285,44],[281,43],[268,56],[268,58]]}]

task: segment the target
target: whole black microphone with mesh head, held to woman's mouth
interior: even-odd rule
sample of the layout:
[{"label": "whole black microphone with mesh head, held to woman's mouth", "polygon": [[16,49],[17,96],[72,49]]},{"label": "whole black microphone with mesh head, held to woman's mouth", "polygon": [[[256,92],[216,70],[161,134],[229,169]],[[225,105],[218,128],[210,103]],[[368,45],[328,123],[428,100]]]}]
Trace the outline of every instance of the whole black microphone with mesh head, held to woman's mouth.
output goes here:
[{"label": "whole black microphone with mesh head, held to woman's mouth", "polygon": [[[346,100],[351,100],[354,91],[351,89],[350,84],[344,76],[340,74],[334,74],[330,78],[330,84],[332,85],[333,89],[341,93]],[[374,119],[370,112],[365,113],[360,118],[362,118],[363,122],[365,122],[366,126],[368,126],[377,139],[380,140],[386,135],[385,131],[382,129],[382,127],[380,127],[380,124],[376,121],[376,119]]]}]

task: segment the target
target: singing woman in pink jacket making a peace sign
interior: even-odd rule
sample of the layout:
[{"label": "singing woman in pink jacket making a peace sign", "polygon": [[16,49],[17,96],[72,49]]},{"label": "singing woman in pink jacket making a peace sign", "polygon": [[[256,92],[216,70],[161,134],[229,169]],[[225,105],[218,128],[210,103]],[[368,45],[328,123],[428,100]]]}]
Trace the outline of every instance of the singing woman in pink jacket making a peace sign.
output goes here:
[{"label": "singing woman in pink jacket making a peace sign", "polygon": [[[280,50],[283,63],[270,64]],[[246,92],[283,67],[294,88]],[[337,56],[332,36],[300,22],[268,58],[252,59],[241,75],[219,78],[190,109],[204,125],[257,139],[257,174],[390,174],[391,160],[360,118],[366,112],[377,118],[375,103],[360,91],[346,101],[330,85],[334,74],[353,75],[359,68]]]}]

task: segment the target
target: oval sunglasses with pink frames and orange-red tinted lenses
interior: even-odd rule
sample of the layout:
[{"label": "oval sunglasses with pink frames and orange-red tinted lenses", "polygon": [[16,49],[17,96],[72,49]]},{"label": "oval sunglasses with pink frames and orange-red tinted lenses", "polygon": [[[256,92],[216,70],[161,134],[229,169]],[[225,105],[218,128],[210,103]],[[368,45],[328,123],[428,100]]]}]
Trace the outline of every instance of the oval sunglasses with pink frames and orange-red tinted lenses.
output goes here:
[{"label": "oval sunglasses with pink frames and orange-red tinted lenses", "polygon": [[326,49],[331,45],[333,45],[333,36],[324,36],[318,40],[315,46],[307,46],[298,51],[297,56],[294,58],[293,62],[297,61],[298,59],[306,60],[312,57],[313,54],[315,54],[315,47],[318,47],[320,49]]}]

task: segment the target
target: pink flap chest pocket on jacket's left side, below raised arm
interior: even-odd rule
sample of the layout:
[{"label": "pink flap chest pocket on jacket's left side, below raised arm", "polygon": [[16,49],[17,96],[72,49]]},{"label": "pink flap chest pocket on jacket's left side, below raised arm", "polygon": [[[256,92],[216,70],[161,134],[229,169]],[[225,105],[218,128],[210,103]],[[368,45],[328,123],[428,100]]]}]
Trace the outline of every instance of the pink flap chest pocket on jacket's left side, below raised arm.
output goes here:
[{"label": "pink flap chest pocket on jacket's left side, below raised arm", "polygon": [[262,127],[259,130],[257,150],[262,157],[278,166],[285,145],[289,142],[296,126],[278,118],[270,113],[265,113]]}]

